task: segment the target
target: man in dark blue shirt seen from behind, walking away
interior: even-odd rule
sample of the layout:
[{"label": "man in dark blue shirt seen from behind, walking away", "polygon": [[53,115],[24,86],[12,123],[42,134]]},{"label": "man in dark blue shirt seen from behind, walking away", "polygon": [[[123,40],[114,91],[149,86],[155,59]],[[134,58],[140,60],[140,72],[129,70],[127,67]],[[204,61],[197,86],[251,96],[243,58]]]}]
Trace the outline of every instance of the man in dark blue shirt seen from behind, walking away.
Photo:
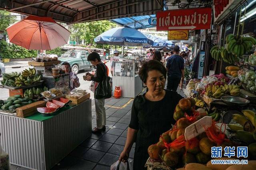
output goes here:
[{"label": "man in dark blue shirt seen from behind, walking away", "polygon": [[184,76],[184,59],[180,57],[180,47],[174,46],[174,55],[167,59],[167,89],[171,91],[177,91],[181,77]]}]

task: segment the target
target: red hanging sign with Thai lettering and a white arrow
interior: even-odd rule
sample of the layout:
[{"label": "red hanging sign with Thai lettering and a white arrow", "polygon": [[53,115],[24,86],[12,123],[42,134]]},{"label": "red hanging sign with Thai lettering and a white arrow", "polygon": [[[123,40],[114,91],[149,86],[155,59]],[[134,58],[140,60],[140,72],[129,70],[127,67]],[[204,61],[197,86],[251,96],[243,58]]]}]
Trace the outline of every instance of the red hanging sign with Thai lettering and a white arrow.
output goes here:
[{"label": "red hanging sign with Thai lettering and a white arrow", "polygon": [[212,8],[168,10],[156,14],[156,30],[201,30],[211,26]]}]

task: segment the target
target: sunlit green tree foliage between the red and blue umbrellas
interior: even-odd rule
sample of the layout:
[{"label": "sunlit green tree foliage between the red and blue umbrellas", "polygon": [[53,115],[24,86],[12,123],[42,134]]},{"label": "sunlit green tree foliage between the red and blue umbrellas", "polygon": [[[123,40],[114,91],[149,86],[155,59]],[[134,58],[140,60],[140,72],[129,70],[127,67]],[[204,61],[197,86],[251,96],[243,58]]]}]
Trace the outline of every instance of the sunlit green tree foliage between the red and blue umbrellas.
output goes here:
[{"label": "sunlit green tree foliage between the red and blue umbrellas", "polygon": [[114,27],[117,27],[117,25],[110,21],[104,20],[72,24],[69,26],[68,30],[71,32],[70,40],[78,43],[84,40],[87,44],[95,44],[95,37]]}]

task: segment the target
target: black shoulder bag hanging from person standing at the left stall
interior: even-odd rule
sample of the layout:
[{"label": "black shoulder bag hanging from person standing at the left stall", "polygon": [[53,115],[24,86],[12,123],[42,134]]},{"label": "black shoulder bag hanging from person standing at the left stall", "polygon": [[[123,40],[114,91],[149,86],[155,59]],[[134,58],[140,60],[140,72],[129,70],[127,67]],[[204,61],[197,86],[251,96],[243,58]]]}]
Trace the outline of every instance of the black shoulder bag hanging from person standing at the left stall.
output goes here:
[{"label": "black shoulder bag hanging from person standing at the left stall", "polygon": [[102,69],[105,71],[106,74],[103,77],[102,81],[98,83],[98,86],[94,91],[95,99],[108,99],[112,96],[112,89],[109,83],[110,77],[107,76],[106,67]]}]

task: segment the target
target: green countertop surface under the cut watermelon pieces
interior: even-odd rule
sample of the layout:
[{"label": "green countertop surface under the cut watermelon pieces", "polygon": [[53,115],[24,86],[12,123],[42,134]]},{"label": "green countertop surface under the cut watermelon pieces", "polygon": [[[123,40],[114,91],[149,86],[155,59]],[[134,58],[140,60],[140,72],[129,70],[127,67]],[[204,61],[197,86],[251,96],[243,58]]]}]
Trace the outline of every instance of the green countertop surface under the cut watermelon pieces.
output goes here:
[{"label": "green countertop surface under the cut watermelon pieces", "polygon": [[28,116],[26,117],[26,119],[31,119],[31,120],[34,120],[34,121],[46,121],[47,119],[51,119],[52,117],[68,110],[68,109],[71,109],[72,107],[74,107],[75,105],[69,105],[67,107],[62,107],[60,108],[58,111],[56,111],[55,113],[53,113],[51,116],[43,116],[41,113],[39,112],[36,112],[34,115],[31,115],[31,116]]}]

